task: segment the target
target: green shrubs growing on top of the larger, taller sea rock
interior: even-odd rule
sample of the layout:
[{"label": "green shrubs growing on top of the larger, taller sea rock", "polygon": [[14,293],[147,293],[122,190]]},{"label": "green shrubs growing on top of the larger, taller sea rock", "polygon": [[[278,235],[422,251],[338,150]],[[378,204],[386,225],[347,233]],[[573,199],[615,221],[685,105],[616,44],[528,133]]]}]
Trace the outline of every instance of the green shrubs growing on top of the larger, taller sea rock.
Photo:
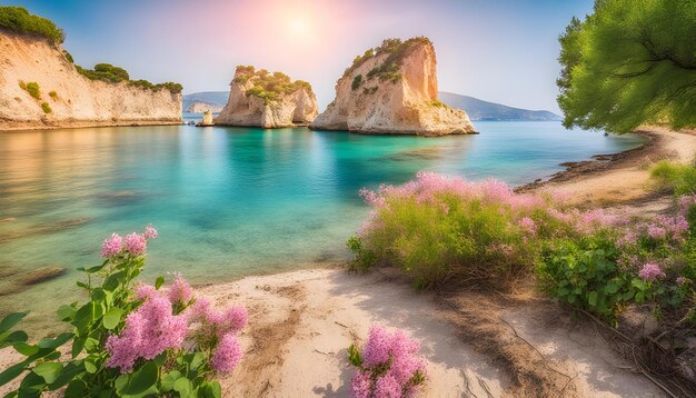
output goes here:
[{"label": "green shrubs growing on top of the larger, taller sea rock", "polygon": [[[368,49],[362,56],[357,56],[352,60],[352,64],[350,64],[350,67],[348,67],[348,69],[344,71],[341,79],[350,76],[350,73],[352,73],[356,69],[358,69],[360,66],[362,66],[365,62],[372,59],[374,57],[388,53],[389,56],[380,66],[372,68],[367,73],[367,79],[361,78],[360,80],[366,81],[377,77],[379,78],[379,81],[397,82],[401,80],[399,67],[401,66],[401,62],[404,61],[406,56],[410,53],[410,50],[415,48],[415,44],[431,46],[432,42],[426,37],[411,38],[406,41],[401,41],[401,39],[385,39],[379,47]],[[354,86],[355,87],[352,89],[356,90],[360,87],[360,82],[357,82]]]}]

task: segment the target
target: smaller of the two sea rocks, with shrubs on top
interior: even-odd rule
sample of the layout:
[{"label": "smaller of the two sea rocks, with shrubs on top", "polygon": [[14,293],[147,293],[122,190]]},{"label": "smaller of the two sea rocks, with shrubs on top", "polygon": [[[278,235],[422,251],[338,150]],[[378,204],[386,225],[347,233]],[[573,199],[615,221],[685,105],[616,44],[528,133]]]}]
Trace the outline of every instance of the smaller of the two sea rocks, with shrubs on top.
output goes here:
[{"label": "smaller of the two sea rocks, with shrubs on top", "polygon": [[230,83],[227,106],[213,122],[272,129],[307,126],[317,113],[317,98],[308,82],[240,66]]}]

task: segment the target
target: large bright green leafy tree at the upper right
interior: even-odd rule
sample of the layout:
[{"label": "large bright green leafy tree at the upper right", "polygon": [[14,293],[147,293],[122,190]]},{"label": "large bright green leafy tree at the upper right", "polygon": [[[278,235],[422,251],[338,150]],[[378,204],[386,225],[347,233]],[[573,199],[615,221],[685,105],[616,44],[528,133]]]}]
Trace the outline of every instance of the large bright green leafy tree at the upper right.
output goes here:
[{"label": "large bright green leafy tree at the upper right", "polygon": [[560,36],[564,126],[696,126],[696,2],[596,0]]}]

